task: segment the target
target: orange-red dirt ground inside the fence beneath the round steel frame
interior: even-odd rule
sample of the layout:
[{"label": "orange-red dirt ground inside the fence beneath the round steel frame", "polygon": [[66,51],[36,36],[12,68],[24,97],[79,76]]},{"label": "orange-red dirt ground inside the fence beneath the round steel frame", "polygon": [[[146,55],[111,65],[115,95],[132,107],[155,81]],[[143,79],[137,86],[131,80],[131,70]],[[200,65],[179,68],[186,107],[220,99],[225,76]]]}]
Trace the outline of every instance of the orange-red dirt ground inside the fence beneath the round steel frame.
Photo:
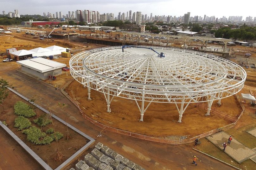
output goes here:
[{"label": "orange-red dirt ground inside the fence beneath the round steel frame", "polygon": [[[102,93],[92,90],[92,100],[89,101],[87,100],[87,88],[83,88],[77,81],[73,81],[66,91],[92,119],[104,125],[148,136],[171,139],[176,139],[171,137],[175,135],[194,137],[216,129],[219,125],[231,123],[214,114],[204,116],[207,111],[195,108],[194,104],[189,105],[182,116],[182,123],[178,123],[179,115],[176,106],[167,103],[152,103],[144,113],[144,121],[139,122],[140,113],[133,100],[115,97],[110,106],[112,112],[107,113],[106,100]],[[221,103],[222,106],[217,109],[232,116],[240,114],[241,109],[234,96],[223,99]],[[215,104],[216,102],[213,106]]]}]

